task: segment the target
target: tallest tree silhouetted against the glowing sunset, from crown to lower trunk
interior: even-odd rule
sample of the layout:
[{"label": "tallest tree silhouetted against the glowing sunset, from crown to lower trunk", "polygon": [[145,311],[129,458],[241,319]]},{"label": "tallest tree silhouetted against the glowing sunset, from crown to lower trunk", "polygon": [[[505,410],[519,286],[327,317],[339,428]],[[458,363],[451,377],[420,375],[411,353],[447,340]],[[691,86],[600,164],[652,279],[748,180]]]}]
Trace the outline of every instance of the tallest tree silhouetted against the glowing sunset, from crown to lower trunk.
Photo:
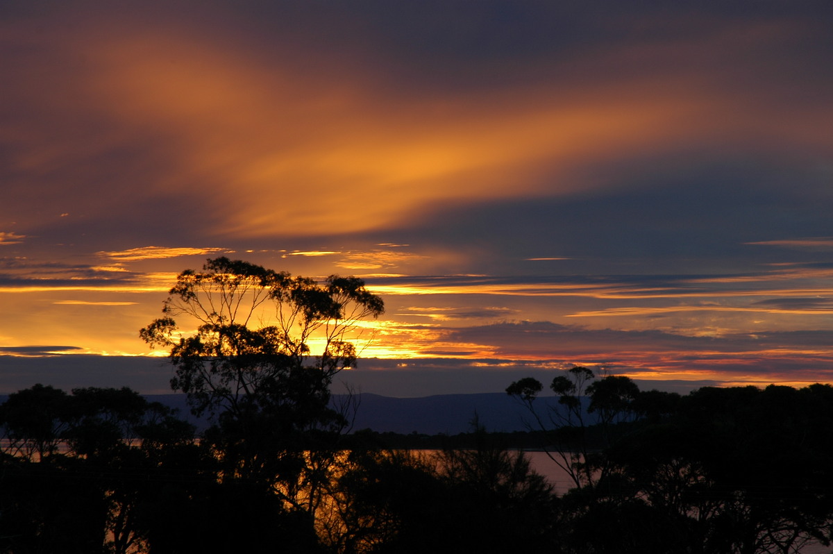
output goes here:
[{"label": "tallest tree silhouetted against the glowing sunset, from crown to lower trunk", "polygon": [[362,319],[383,311],[356,277],[318,283],[218,257],[179,274],[140,336],[169,349],[172,387],[212,417],[203,439],[220,477],[257,482],[314,516],[347,425],[330,406],[332,378],[356,364]]}]

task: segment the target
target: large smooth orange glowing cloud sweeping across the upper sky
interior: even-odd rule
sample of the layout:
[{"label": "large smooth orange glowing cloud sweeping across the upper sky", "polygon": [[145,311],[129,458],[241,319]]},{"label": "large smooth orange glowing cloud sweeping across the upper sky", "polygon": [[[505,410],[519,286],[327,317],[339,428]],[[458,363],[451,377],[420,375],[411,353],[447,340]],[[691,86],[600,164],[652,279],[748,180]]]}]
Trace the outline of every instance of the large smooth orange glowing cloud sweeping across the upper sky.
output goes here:
[{"label": "large smooth orange glowing cloud sweeping across the upper sky", "polygon": [[[66,82],[51,77],[70,84],[67,99],[35,102],[107,122],[107,132],[84,144],[57,137],[19,166],[60,167],[138,137],[159,145],[169,163],[148,191],[193,198],[210,216],[207,227],[227,235],[360,232],[471,198],[609,187],[594,177],[600,162],[715,137],[724,147],[726,137],[813,141],[807,129],[820,117],[786,109],[761,117],[746,98],[726,94],[726,83],[679,69],[590,77],[616,59],[632,67],[626,53],[588,54],[576,62],[588,72],[561,82],[419,97],[357,57],[332,62],[296,49],[266,59],[205,29],[102,27],[42,46],[83,62],[81,71],[64,70]],[[670,49],[716,52],[727,36]],[[297,62],[304,56],[315,71]]]}]

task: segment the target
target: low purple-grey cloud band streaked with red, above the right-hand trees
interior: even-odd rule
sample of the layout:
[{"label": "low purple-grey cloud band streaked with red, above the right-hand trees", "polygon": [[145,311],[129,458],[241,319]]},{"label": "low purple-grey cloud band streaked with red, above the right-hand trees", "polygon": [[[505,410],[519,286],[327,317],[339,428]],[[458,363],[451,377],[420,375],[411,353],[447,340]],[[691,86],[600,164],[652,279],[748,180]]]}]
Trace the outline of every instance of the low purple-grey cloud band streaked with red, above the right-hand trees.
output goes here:
[{"label": "low purple-grey cloud band streaked with red, above the right-hand trees", "polygon": [[[493,345],[497,356],[506,359],[537,357],[541,352],[549,352],[551,360],[565,365],[591,363],[610,367],[613,372],[636,371],[656,377],[669,372],[691,376],[721,372],[726,376],[758,375],[763,380],[785,379],[791,373],[796,380],[833,378],[829,369],[833,362],[830,332],[823,331],[690,337],[653,330],[620,331],[552,322],[518,322],[458,328],[448,332],[446,338]],[[779,351],[789,355],[773,355]],[[819,371],[814,372],[813,368]]]}]

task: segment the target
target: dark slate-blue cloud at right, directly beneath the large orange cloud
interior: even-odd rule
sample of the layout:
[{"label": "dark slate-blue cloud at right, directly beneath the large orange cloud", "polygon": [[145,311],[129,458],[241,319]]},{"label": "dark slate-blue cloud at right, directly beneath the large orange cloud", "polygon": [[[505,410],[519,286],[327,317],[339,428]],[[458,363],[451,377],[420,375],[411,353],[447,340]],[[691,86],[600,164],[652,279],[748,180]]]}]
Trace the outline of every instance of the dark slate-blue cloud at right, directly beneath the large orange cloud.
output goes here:
[{"label": "dark slate-blue cloud at right, directly beneath the large orange cloud", "polygon": [[[669,163],[672,162],[672,163]],[[750,160],[654,159],[621,167],[610,191],[448,207],[419,222],[421,240],[482,247],[485,272],[738,271],[752,263],[817,261],[750,242],[830,230],[830,175]],[[807,199],[815,201],[808,204]],[[414,225],[414,223],[411,223]],[[423,227],[424,226],[424,227]],[[387,236],[407,237],[413,227]],[[546,264],[525,257],[567,257]],[[514,260],[514,265],[509,261]]]}]

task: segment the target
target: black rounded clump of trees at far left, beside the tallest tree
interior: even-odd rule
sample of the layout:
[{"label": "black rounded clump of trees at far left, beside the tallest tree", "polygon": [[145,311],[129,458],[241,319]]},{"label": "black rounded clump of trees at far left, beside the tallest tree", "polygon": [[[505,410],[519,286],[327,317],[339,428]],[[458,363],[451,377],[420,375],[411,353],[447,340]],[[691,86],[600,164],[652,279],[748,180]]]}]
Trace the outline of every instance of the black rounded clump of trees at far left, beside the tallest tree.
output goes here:
[{"label": "black rounded clump of trees at far left, beside the tallest tree", "polygon": [[137,552],[161,452],[193,427],[128,389],[42,385],[0,406],[0,552]]}]

